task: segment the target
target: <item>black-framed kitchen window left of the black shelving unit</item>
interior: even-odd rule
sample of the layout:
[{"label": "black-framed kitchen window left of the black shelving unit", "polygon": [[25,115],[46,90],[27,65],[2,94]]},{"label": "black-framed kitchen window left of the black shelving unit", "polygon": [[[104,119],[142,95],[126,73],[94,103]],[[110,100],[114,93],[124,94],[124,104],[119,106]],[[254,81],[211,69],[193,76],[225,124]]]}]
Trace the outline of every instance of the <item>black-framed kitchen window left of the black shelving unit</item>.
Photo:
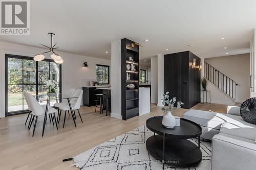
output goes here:
[{"label": "black-framed kitchen window left of the black shelving unit", "polygon": [[110,66],[97,64],[96,80],[99,84],[110,84]]}]

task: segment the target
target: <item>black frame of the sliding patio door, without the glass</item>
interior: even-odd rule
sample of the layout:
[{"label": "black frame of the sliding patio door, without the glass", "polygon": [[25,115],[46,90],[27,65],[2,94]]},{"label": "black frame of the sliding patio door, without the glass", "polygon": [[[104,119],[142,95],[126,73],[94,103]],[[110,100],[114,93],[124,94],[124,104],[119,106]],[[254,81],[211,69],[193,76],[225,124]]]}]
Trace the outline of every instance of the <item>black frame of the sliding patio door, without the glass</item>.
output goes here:
[{"label": "black frame of the sliding patio door, without the glass", "polygon": [[[8,58],[15,58],[15,59],[24,59],[24,60],[33,60],[33,57],[28,56],[20,56],[20,55],[12,55],[12,54],[5,54],[5,116],[12,116],[17,114],[25,114],[28,113],[29,110],[20,110],[20,111],[11,111],[8,112]],[[54,62],[52,59],[44,59],[42,61]],[[49,67],[50,69],[50,67]],[[61,75],[61,64],[59,64],[59,93],[62,91],[62,75]],[[49,71],[50,74],[50,71]],[[49,76],[50,78],[50,76]],[[23,78],[24,79],[24,78]],[[38,61],[36,61],[36,95],[38,94]],[[23,83],[24,86],[24,83]],[[23,87],[24,89],[24,87]],[[24,96],[23,96],[24,98]]]}]

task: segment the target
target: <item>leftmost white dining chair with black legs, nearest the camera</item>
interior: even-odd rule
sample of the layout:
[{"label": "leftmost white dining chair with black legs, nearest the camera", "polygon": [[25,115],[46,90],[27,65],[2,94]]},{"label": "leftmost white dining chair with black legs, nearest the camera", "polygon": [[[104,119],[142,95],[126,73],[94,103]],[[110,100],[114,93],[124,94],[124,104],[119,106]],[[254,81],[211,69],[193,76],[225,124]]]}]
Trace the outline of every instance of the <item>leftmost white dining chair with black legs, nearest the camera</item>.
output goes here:
[{"label": "leftmost white dining chair with black legs, nearest the camera", "polygon": [[[31,114],[33,115],[31,123],[29,125],[29,130],[32,126],[32,123],[34,122],[34,118],[36,117],[35,118],[35,123],[34,123],[33,135],[32,135],[32,136],[34,136],[35,127],[36,127],[36,123],[37,123],[37,118],[38,118],[38,116],[44,116],[45,115],[46,105],[40,105],[37,102],[37,100],[28,92],[24,92],[24,95],[25,95],[25,98],[27,98],[27,100],[28,100],[29,107],[32,110]],[[53,116],[52,121],[53,121],[53,119],[55,120],[56,129],[58,130],[57,121],[56,121],[56,117],[55,117],[55,112],[57,112],[57,110],[49,106],[47,114],[51,115],[51,117]]]}]

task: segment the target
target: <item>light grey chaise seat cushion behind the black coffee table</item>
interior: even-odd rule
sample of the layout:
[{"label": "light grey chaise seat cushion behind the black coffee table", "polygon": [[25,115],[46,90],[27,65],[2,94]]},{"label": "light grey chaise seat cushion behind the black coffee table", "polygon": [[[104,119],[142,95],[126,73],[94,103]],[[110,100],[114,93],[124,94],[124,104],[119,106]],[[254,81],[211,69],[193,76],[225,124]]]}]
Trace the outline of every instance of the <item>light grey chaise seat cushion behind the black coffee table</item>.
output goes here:
[{"label": "light grey chaise seat cushion behind the black coffee table", "polygon": [[188,110],[183,118],[189,119],[201,126],[209,127],[213,129],[220,130],[222,123],[228,122],[235,125],[244,124],[245,121],[241,118],[241,116],[237,115],[229,115],[229,114],[221,114],[210,111],[202,111],[202,110]]}]

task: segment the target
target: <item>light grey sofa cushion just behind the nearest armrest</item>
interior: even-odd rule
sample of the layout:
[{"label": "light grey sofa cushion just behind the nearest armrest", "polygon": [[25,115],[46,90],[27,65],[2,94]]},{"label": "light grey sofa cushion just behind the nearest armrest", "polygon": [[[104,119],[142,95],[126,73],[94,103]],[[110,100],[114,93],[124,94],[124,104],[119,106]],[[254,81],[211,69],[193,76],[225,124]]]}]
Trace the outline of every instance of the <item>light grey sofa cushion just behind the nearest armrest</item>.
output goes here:
[{"label": "light grey sofa cushion just behind the nearest armrest", "polygon": [[223,123],[220,133],[245,138],[254,143],[256,139],[256,126],[253,124],[251,125],[252,126]]}]

